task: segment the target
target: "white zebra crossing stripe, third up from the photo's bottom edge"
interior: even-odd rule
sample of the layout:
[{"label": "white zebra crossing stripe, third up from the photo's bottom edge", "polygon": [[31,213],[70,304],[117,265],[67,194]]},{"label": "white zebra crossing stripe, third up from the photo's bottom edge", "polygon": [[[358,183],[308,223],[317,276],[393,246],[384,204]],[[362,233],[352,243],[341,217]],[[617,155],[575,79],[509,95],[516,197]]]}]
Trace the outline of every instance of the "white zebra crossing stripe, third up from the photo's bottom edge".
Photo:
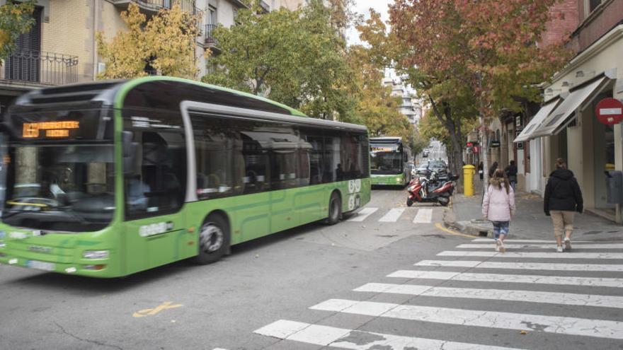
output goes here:
[{"label": "white zebra crossing stripe, third up from the photo's bottom edge", "polygon": [[493,301],[522,301],[560,305],[594,306],[598,308],[623,308],[623,296],[558,293],[546,291],[521,291],[510,289],[479,289],[425,286],[422,284],[368,283],[353,291],[406,294],[409,296],[437,296],[440,298],[483,299]]}]

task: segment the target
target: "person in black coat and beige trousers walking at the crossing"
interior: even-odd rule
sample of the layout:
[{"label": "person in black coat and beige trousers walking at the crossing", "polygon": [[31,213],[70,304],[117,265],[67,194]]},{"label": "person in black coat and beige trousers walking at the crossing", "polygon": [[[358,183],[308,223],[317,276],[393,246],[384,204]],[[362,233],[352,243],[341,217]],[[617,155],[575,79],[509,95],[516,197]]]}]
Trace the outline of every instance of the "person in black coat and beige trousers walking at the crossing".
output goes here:
[{"label": "person in black coat and beige trousers walking at the crossing", "polygon": [[578,180],[566,163],[558,158],[556,170],[549,175],[545,186],[543,202],[545,215],[551,216],[556,236],[556,252],[563,252],[562,235],[565,233],[564,250],[571,250],[571,233],[573,233],[573,214],[583,211],[583,199]]}]

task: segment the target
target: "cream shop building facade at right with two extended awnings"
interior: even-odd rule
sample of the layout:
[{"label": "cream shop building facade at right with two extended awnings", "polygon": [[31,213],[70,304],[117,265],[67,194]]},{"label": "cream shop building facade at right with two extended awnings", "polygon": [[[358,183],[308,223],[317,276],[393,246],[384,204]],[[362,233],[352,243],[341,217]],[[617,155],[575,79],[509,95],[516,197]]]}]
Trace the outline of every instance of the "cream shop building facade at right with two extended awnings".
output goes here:
[{"label": "cream shop building facade at right with two extended awnings", "polygon": [[554,161],[564,158],[585,208],[621,223],[622,207],[607,202],[605,172],[623,170],[622,126],[598,122],[595,106],[623,100],[623,0],[573,3],[577,24],[568,45],[576,55],[544,86],[545,102],[515,139],[529,147],[524,188],[542,194]]}]

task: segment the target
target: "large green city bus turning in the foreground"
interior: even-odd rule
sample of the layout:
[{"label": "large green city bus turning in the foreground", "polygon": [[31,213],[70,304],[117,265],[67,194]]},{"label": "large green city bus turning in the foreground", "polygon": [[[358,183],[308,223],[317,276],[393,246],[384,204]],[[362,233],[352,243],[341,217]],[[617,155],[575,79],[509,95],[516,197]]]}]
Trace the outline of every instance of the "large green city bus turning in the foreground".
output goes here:
[{"label": "large green city bus turning in the foreground", "polygon": [[31,91],[3,124],[0,262],[116,277],[370,201],[367,129],[164,76]]}]

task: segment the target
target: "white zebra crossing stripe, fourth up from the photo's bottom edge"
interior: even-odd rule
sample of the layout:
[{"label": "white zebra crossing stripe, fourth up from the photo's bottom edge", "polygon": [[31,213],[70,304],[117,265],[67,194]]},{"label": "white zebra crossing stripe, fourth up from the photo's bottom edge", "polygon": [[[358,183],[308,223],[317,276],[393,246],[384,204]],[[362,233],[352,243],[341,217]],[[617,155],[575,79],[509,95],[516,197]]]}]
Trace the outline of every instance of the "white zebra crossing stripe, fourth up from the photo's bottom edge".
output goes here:
[{"label": "white zebra crossing stripe, fourth up from the photo's bottom edge", "polygon": [[[387,277],[406,279],[441,279],[469,282],[501,282],[525,284],[558,284],[568,286],[613,287],[623,288],[623,279],[574,276],[538,276],[527,274],[475,274],[471,272],[440,272],[399,270]],[[623,305],[622,305],[623,307]]]}]

